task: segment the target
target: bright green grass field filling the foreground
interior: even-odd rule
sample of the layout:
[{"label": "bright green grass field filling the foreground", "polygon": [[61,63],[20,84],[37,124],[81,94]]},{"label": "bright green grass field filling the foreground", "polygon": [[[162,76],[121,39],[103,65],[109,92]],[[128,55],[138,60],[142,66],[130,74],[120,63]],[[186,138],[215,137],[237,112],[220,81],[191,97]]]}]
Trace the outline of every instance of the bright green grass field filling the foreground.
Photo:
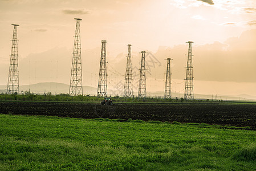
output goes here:
[{"label": "bright green grass field filling the foreground", "polygon": [[121,121],[0,115],[0,170],[256,169],[255,131]]}]

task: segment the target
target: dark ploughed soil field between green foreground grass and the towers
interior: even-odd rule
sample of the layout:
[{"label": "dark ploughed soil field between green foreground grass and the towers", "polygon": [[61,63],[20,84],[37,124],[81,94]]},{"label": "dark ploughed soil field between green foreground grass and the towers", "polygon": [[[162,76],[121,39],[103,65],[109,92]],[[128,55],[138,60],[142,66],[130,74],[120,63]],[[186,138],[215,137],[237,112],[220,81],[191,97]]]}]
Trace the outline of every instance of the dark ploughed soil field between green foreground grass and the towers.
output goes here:
[{"label": "dark ploughed soil field between green foreground grass and the towers", "polygon": [[0,101],[0,113],[83,119],[102,117],[120,121],[178,121],[256,128],[256,105],[247,103],[120,103],[102,106],[82,102]]}]

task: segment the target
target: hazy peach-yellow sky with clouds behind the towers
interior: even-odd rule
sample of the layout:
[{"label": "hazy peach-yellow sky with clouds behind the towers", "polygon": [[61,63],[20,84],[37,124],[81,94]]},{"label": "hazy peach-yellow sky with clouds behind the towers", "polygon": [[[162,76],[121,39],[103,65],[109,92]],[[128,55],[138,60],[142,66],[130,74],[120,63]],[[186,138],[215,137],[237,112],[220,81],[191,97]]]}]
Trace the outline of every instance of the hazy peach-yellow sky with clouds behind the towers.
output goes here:
[{"label": "hazy peach-yellow sky with clouds behind the towers", "polygon": [[[256,96],[256,1],[0,0],[0,85],[7,84],[13,26],[18,27],[19,84],[70,83],[75,20],[80,22],[83,85],[97,87],[101,40],[107,40],[108,87],[121,91],[132,44],[137,91],[140,51],[147,51],[147,90],[184,92],[193,41],[194,93]],[[147,58],[148,57],[148,58]]]}]

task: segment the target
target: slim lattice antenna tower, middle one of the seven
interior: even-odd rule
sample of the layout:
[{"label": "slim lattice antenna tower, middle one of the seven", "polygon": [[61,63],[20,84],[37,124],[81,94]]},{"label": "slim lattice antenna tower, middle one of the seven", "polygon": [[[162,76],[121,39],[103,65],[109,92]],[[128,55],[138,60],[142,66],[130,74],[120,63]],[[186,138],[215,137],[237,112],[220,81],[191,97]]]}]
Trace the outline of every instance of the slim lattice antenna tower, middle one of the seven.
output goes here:
[{"label": "slim lattice antenna tower, middle one of the seven", "polygon": [[124,79],[124,97],[133,97],[132,91],[132,44],[128,44],[128,55],[127,55],[127,63],[126,63],[126,71],[125,71],[125,79]]}]

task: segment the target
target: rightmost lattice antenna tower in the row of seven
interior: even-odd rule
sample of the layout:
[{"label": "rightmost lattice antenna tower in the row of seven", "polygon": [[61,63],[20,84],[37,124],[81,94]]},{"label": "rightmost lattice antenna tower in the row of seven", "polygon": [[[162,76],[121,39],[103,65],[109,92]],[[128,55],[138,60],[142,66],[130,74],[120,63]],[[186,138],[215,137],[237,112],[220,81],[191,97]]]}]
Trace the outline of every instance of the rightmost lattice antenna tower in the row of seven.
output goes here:
[{"label": "rightmost lattice antenna tower in the row of seven", "polygon": [[188,51],[188,63],[186,64],[186,83],[185,83],[185,100],[193,100],[194,99],[194,86],[193,86],[193,66],[192,66],[192,43],[194,42],[186,42],[189,43],[189,51]]}]

